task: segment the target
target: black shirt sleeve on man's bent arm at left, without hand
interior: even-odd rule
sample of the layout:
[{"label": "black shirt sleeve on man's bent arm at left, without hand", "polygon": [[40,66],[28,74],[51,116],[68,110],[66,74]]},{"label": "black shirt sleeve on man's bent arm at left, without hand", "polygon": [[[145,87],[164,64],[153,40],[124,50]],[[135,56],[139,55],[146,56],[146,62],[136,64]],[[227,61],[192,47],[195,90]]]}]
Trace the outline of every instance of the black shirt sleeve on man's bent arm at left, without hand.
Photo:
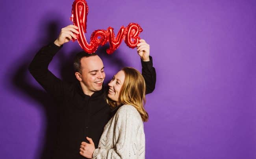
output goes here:
[{"label": "black shirt sleeve on man's bent arm at left, without hand", "polygon": [[56,98],[63,97],[64,82],[48,70],[48,65],[61,47],[58,47],[54,43],[50,43],[41,48],[28,68],[32,76],[46,90],[46,92]]}]

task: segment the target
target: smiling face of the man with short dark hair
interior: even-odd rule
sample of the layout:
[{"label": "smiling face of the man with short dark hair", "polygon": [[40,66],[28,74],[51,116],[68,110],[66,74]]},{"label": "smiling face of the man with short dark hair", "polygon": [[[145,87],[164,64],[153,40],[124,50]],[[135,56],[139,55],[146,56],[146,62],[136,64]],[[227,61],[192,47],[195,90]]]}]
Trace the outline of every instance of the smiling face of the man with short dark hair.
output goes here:
[{"label": "smiling face of the man with short dark hair", "polygon": [[[95,92],[102,89],[105,78],[104,65],[99,56],[83,57],[82,66],[82,83],[86,92]],[[83,87],[83,86],[82,86]]]}]

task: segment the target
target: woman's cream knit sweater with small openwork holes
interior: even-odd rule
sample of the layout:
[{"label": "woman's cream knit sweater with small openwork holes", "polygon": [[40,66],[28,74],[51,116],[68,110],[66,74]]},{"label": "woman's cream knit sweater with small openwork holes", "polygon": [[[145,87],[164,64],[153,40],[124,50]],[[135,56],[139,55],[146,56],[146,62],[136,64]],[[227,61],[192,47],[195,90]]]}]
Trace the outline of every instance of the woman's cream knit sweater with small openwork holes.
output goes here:
[{"label": "woman's cream knit sweater with small openwork holes", "polygon": [[132,105],[117,110],[100,137],[93,159],[145,159],[145,134],[139,112]]}]

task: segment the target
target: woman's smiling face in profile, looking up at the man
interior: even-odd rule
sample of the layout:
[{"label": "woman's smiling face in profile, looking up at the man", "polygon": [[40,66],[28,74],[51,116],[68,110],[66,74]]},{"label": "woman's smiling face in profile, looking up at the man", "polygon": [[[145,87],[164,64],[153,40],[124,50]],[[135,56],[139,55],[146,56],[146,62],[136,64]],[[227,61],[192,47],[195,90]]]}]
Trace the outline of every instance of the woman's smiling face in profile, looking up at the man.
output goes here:
[{"label": "woman's smiling face in profile, looking up at the man", "polygon": [[117,102],[117,105],[120,104],[119,102],[119,94],[122,88],[122,84],[124,83],[125,74],[124,71],[121,70],[117,72],[116,75],[113,76],[112,80],[108,83],[109,90],[108,90],[108,97],[113,101]]}]

